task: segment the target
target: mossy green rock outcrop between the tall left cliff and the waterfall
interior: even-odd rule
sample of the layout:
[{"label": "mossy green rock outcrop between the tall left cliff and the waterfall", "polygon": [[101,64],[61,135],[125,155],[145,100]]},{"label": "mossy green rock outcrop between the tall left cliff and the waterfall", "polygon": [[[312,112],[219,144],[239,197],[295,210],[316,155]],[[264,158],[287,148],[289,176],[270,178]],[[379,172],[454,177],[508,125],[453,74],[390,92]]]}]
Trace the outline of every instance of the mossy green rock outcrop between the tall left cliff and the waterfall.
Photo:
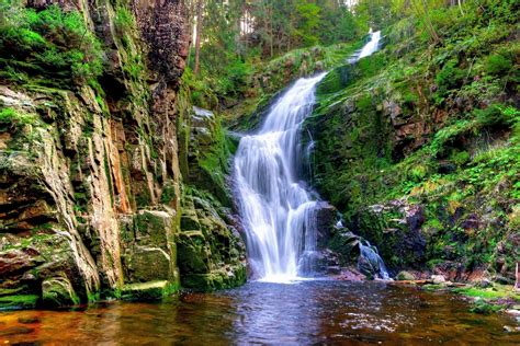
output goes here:
[{"label": "mossy green rock outcrop between the tall left cliff and the waterfall", "polygon": [[178,234],[181,282],[197,290],[229,288],[246,281],[246,247],[227,181],[230,150],[215,114],[199,107],[190,114],[180,158],[188,184]]}]

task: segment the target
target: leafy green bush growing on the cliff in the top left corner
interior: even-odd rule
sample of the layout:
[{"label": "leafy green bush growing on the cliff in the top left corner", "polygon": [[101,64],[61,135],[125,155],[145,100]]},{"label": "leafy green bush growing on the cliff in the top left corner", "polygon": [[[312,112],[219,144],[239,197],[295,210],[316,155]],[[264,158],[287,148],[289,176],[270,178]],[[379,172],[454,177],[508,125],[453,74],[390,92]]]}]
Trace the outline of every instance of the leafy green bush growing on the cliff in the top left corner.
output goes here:
[{"label": "leafy green bush growing on the cliff in the top left corner", "polygon": [[102,73],[101,44],[79,12],[58,5],[36,12],[20,0],[1,0],[0,9],[0,66],[8,68],[0,77],[19,81],[29,72],[42,74],[42,83],[83,83]]}]

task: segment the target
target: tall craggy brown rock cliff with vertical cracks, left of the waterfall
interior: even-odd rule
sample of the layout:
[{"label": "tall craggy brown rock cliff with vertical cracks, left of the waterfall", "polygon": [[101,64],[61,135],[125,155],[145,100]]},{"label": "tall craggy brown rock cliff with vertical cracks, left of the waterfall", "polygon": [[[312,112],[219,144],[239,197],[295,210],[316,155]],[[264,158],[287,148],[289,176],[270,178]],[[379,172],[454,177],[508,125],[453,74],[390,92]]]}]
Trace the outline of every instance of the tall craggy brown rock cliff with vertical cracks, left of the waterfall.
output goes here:
[{"label": "tall craggy brown rock cliff with vertical cracks, left of the waterfall", "polygon": [[[179,129],[189,128],[193,115],[180,90],[189,44],[182,2],[26,5],[52,9],[59,18],[78,13],[71,20],[82,21],[75,25],[84,25],[83,36],[102,49],[102,71],[86,80],[75,77],[83,70],[74,70],[65,80],[69,67],[46,70],[35,62],[33,74],[20,81],[16,73],[33,66],[16,59],[29,53],[2,56],[2,66],[12,59],[18,70],[0,79],[0,305],[76,304],[100,295],[162,297],[193,274],[182,270],[188,264],[179,272],[179,256],[186,263],[202,256],[210,272],[196,274],[222,272],[224,279],[215,280],[242,282],[241,243],[211,204],[186,208],[200,222],[186,231],[203,234],[212,258],[196,251],[186,255],[179,246],[185,244],[179,157],[188,148]],[[48,49],[83,49],[47,39]]]}]

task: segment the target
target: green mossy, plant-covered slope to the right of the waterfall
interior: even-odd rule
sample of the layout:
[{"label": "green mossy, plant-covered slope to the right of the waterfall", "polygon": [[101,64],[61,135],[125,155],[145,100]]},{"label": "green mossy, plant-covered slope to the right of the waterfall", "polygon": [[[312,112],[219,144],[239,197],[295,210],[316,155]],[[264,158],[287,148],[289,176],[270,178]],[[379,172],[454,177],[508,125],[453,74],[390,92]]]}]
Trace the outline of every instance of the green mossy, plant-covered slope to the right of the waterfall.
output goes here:
[{"label": "green mossy, plant-covered slope to the right of the waterfall", "polygon": [[439,5],[423,21],[385,28],[381,53],[318,86],[313,181],[392,268],[513,284],[517,4]]}]

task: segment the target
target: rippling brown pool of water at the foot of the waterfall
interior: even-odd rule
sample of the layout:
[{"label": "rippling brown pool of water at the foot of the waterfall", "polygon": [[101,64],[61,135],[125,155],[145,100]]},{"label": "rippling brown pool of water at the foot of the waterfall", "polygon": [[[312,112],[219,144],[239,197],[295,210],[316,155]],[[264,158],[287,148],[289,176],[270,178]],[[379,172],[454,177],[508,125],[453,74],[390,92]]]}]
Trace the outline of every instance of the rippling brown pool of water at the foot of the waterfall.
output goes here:
[{"label": "rippling brown pool of water at the foot of the waterfall", "polygon": [[250,282],[168,303],[112,302],[79,311],[0,313],[0,344],[520,345],[500,315],[452,295],[384,282]]}]

